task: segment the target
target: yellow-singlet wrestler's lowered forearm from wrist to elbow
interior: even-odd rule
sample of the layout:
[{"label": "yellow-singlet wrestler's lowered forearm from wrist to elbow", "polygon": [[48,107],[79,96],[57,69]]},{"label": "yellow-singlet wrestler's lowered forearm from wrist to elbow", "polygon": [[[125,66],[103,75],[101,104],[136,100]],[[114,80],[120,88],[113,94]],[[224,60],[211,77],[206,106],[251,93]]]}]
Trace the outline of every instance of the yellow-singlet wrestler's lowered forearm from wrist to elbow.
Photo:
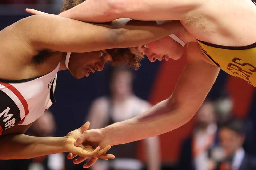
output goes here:
[{"label": "yellow-singlet wrestler's lowered forearm from wrist to elbow", "polygon": [[117,145],[160,135],[187,123],[198,109],[170,105],[167,99],[137,117],[112,124],[102,129],[104,136],[111,145]]}]

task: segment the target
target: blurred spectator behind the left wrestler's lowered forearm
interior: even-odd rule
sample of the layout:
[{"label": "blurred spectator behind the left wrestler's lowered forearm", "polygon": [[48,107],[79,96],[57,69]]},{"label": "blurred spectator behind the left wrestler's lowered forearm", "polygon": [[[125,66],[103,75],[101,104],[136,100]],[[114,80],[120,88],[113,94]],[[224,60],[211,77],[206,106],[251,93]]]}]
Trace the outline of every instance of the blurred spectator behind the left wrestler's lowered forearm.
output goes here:
[{"label": "blurred spectator behind the left wrestler's lowered forearm", "polygon": [[[54,117],[50,111],[37,119],[28,131],[32,136],[53,136],[56,130]],[[0,160],[1,170],[64,170],[63,153],[25,160]]]}]

